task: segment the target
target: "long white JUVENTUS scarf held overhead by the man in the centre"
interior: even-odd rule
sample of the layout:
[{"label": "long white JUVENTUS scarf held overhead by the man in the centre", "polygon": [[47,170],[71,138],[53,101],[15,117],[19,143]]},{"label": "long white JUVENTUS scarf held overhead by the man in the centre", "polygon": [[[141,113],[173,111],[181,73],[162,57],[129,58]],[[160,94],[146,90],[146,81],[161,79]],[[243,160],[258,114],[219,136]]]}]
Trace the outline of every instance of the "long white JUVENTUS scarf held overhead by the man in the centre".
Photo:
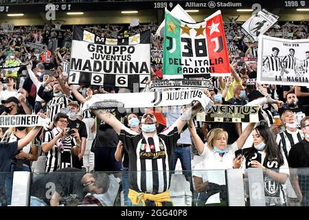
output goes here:
[{"label": "long white JUVENTUS scarf held overhead by the man in the centre", "polygon": [[90,100],[84,102],[82,110],[115,109],[117,107],[146,108],[168,107],[191,104],[193,101],[201,102],[203,109],[208,111],[214,102],[201,90],[155,91],[127,94],[95,94]]}]

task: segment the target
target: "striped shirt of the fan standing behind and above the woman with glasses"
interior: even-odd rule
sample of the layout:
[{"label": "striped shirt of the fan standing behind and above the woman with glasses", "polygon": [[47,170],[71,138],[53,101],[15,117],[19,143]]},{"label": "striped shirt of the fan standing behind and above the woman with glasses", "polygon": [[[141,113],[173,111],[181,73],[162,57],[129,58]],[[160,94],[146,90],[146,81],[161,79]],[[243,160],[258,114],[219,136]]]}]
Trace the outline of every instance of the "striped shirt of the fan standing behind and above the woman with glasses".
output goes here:
[{"label": "striped shirt of the fan standing behind and above the woman with glasses", "polygon": [[71,102],[72,98],[67,97],[65,94],[62,94],[59,97],[54,97],[52,100],[49,100],[47,102],[46,111],[49,112],[49,119],[52,122],[54,120],[54,116],[56,113],[60,112],[60,109],[66,108],[69,102]]}]

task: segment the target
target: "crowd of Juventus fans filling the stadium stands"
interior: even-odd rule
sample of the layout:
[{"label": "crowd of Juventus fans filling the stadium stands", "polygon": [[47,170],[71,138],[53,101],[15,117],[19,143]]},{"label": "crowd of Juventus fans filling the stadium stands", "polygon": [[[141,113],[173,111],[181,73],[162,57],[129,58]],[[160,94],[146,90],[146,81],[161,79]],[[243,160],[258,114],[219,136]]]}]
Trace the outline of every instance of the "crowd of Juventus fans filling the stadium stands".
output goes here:
[{"label": "crowd of Juventus fans filling the stadium stands", "polygon": [[[145,114],[126,114],[117,110],[81,111],[84,102],[94,94],[121,93],[122,88],[68,85],[71,30],[55,29],[49,25],[43,28],[30,26],[0,30],[0,115],[40,114],[51,121],[48,127],[38,132],[32,142],[24,143],[24,146],[18,148],[18,153],[16,151],[12,158],[5,160],[10,163],[9,166],[0,162],[0,172],[23,170],[53,173],[63,168],[84,171],[123,170],[125,205],[136,205],[139,193],[136,191],[139,187],[145,188],[141,192],[150,191],[158,195],[168,189],[159,189],[155,184],[150,187],[149,183],[142,183],[137,187],[132,183],[132,178],[137,177],[133,176],[128,180],[126,175],[127,170],[132,171],[139,166],[142,166],[141,170],[146,170],[145,164],[138,164],[143,164],[143,159],[138,159],[139,156],[135,155],[135,148],[139,147],[137,144],[140,140],[150,146],[157,146],[162,141],[168,148],[168,157],[172,157],[168,162],[170,170],[179,168],[176,164],[180,159],[182,169],[187,171],[184,173],[185,178],[190,182],[191,190],[196,191],[197,203],[202,206],[211,190],[216,188],[208,181],[205,170],[247,168],[249,161],[251,166],[263,168],[280,185],[279,194],[275,195],[276,199],[268,199],[268,205],[284,206],[288,203],[290,206],[299,206],[301,203],[301,206],[308,206],[309,190],[304,190],[303,186],[292,187],[297,185],[297,179],[295,173],[288,171],[288,167],[309,165],[309,156],[306,157],[306,153],[301,150],[302,146],[309,146],[309,86],[256,83],[257,67],[261,65],[257,63],[258,43],[251,43],[244,36],[241,25],[236,21],[225,23],[231,76],[212,78],[214,90],[205,91],[205,94],[215,104],[259,104],[261,122],[202,123],[193,118],[188,119],[188,127],[185,126],[187,122],[179,120],[180,111],[147,109]],[[128,37],[151,30],[152,50],[158,52],[162,50],[163,39],[155,36],[157,28],[155,23],[135,28],[119,25],[84,27],[89,32],[108,38]],[[309,23],[306,21],[276,23],[266,34],[285,39],[309,39],[308,29]],[[155,56],[161,56],[160,52]],[[304,68],[308,69],[308,64]],[[161,80],[162,71],[162,63],[152,63],[151,80]],[[106,115],[113,120],[106,119]],[[30,127],[1,127],[1,143],[22,140],[31,130]],[[235,155],[234,152],[239,149],[244,151],[241,155]],[[2,145],[0,153],[0,159],[12,155],[10,150],[3,151]],[[264,163],[253,159],[254,153],[260,153]],[[203,158],[198,164],[193,162],[197,157]],[[277,166],[266,166],[266,162],[273,160],[277,162]],[[43,163],[37,166],[38,161]],[[130,169],[130,166],[134,168]],[[150,170],[159,170],[159,167],[161,165],[158,162]],[[89,184],[93,184],[95,178],[99,177],[80,175],[80,182],[83,186],[90,187]],[[0,190],[0,202],[4,206],[10,205],[10,175],[0,181]],[[98,191],[98,188],[87,189],[87,192]],[[226,205],[225,187],[219,187],[219,191],[220,205]],[[100,191],[102,192],[106,192],[106,189]],[[156,199],[158,198],[146,199],[146,205],[152,205],[149,201]],[[52,200],[49,204],[48,202],[45,201],[45,204],[55,204]],[[169,199],[163,199],[164,205],[169,205],[169,202]],[[58,199],[56,205],[60,203],[62,200]]]}]

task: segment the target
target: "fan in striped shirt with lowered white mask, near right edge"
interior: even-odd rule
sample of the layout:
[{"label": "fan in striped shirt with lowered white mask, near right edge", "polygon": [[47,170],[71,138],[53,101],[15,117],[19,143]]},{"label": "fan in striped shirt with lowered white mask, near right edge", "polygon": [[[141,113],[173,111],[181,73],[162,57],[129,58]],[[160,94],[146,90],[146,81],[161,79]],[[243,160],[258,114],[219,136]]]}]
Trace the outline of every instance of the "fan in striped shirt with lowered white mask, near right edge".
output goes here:
[{"label": "fan in striped shirt with lowered white mask, near right edge", "polygon": [[[304,133],[297,129],[297,122],[293,111],[284,111],[281,115],[281,121],[286,131],[277,134],[276,142],[283,149],[286,158],[288,158],[291,146],[301,142],[304,139]],[[297,206],[297,195],[290,184],[290,179],[286,181],[286,193],[288,195],[288,206]]]}]

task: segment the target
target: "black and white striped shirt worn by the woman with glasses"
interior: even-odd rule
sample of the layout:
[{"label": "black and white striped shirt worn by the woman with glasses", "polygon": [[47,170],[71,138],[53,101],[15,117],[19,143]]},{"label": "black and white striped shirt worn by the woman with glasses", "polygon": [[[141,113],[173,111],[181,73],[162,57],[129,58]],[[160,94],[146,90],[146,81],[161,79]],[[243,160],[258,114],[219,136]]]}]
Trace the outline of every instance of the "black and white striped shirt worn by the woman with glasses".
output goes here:
[{"label": "black and white striped shirt worn by the woman with glasses", "polygon": [[[42,144],[51,142],[54,139],[53,131],[46,131]],[[72,167],[72,148],[76,146],[73,137],[67,135],[62,137],[63,151],[58,148],[56,143],[47,153],[45,172],[54,172],[60,168]]]}]

